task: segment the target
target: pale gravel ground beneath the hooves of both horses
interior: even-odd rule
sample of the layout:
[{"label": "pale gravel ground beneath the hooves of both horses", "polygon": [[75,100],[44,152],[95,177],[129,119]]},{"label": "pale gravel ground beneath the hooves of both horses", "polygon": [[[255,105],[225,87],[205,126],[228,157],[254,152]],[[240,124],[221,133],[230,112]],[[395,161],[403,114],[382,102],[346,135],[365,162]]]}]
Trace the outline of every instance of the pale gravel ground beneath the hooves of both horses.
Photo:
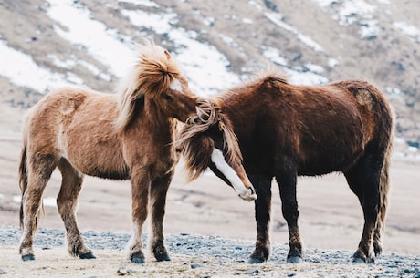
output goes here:
[{"label": "pale gravel ground beneath the hooves of both horses", "polygon": [[[0,247],[16,249],[20,231],[16,227],[0,227]],[[114,232],[83,232],[85,242],[95,254],[104,251],[122,251],[130,238],[130,234]],[[144,237],[144,243],[147,240]],[[36,255],[48,250],[66,250],[64,232],[41,229],[35,241]],[[200,236],[188,233],[166,235],[166,246],[173,261],[168,263],[152,263],[149,255],[148,263],[153,268],[125,262],[117,267],[116,276],[131,275],[137,277],[418,277],[420,278],[420,256],[405,256],[395,253],[384,254],[374,264],[351,263],[352,251],[331,251],[310,249],[306,251],[304,263],[285,263],[289,247],[287,244],[272,246],[271,256],[267,263],[247,264],[253,242],[225,239],[217,236]],[[5,252],[6,253],[6,252]],[[115,256],[115,255],[112,255]],[[115,257],[110,260],[116,260]],[[121,258],[119,258],[121,260]],[[9,259],[10,262],[11,259]],[[63,260],[67,260],[62,259]],[[69,261],[81,262],[82,260]],[[93,261],[99,261],[98,260]],[[8,276],[7,265],[0,260],[0,274]],[[178,261],[178,262],[177,262]],[[5,261],[4,261],[5,262]],[[84,261],[86,262],[86,261]],[[22,265],[22,264],[20,264]],[[25,264],[24,264],[25,265]],[[158,265],[162,265],[159,269]],[[67,266],[68,267],[68,266]],[[142,271],[141,271],[142,270]],[[86,269],[84,274],[86,274]],[[16,274],[16,273],[15,273]],[[72,273],[74,276],[78,276]],[[51,276],[57,276],[51,273]],[[86,275],[80,274],[86,277]],[[101,275],[88,275],[99,277]],[[105,276],[112,276],[110,273]],[[105,277],[104,276],[104,277]],[[60,276],[65,277],[65,276]]]}]

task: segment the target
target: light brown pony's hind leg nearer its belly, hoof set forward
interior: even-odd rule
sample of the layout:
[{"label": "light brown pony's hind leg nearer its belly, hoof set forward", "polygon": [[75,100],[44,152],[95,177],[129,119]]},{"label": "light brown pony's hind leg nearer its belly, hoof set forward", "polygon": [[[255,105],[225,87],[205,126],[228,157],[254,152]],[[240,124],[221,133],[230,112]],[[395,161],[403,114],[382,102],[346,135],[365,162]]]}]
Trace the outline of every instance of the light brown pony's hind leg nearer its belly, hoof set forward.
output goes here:
[{"label": "light brown pony's hind leg nearer its belly, hoof set forward", "polygon": [[76,218],[76,206],[83,176],[65,159],[59,161],[58,169],[61,172],[62,181],[57,205],[58,212],[66,227],[68,252],[73,256],[79,256],[81,259],[94,259],[95,256],[83,242]]}]

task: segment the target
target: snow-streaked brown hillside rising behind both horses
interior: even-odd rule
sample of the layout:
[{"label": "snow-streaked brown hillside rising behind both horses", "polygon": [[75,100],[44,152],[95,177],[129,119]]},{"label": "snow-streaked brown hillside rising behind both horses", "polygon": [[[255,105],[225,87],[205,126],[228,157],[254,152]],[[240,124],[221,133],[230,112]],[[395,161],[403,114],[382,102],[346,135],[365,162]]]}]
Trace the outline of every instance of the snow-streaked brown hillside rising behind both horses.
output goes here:
[{"label": "snow-streaked brown hillside rising behind both horses", "polygon": [[2,106],[65,85],[112,92],[147,37],[203,96],[268,64],[296,84],[367,79],[393,102],[398,142],[415,156],[419,14],[415,0],[0,0]]}]

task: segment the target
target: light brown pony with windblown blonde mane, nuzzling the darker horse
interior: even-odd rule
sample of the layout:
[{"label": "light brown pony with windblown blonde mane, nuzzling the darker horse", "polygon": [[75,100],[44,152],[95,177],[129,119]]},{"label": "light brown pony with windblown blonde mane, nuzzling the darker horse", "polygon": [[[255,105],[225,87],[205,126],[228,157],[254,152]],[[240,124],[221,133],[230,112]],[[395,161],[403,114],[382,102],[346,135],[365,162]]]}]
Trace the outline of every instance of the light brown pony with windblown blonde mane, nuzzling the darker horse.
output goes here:
[{"label": "light brown pony with windblown blonde mane, nuzzling the darker horse", "polygon": [[58,211],[71,255],[95,258],[80,236],[75,212],[86,174],[131,179],[131,262],[145,262],[142,226],[148,208],[152,226],[149,247],[157,261],[170,260],[163,243],[163,216],[178,160],[173,137],[176,119],[184,121],[193,115],[195,103],[196,97],[168,51],[144,41],[138,61],[121,80],[116,95],[61,88],[31,108],[19,170],[22,259],[35,259],[32,245],[42,195],[57,167],[62,174]]}]

